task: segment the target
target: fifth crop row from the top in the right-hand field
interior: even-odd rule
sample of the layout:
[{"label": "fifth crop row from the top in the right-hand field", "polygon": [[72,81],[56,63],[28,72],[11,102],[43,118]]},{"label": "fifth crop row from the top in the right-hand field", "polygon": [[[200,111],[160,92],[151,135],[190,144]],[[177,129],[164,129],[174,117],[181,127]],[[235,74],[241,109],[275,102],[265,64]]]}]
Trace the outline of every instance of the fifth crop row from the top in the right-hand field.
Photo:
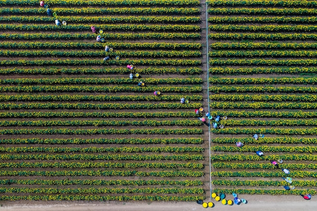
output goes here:
[{"label": "fifth crop row from the top in the right-hand field", "polygon": [[[27,35],[30,36],[30,35]],[[53,35],[52,35],[53,36]],[[10,35],[3,36],[0,34],[0,38],[11,37]],[[12,35],[14,38],[18,38],[18,35]],[[317,40],[315,33],[209,33],[210,39],[250,39],[250,40]]]}]

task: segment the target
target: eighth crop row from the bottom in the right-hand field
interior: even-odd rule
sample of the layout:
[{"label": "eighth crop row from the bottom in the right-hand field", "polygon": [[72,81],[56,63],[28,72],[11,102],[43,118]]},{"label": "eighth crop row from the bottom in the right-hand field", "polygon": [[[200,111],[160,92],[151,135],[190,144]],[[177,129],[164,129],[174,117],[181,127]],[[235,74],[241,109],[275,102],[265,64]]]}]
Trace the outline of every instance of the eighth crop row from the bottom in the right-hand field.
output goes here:
[{"label": "eighth crop row from the bottom in the right-hand field", "polygon": [[[1,132],[1,130],[0,130]],[[303,129],[280,129],[280,128],[259,128],[259,129],[241,129],[241,128],[224,128],[221,130],[212,129],[214,134],[276,134],[276,135],[317,135],[317,128]]]}]

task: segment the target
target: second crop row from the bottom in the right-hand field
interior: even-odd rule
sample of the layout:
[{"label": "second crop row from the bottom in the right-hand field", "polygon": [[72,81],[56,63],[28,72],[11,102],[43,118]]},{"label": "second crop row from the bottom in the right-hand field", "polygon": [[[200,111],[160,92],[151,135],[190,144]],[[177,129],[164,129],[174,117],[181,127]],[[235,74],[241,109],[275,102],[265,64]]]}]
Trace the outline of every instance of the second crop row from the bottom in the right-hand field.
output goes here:
[{"label": "second crop row from the bottom in the right-hand field", "polygon": [[[264,181],[264,180],[213,180],[213,185],[232,185],[232,186],[283,186],[285,181]],[[316,181],[294,180],[292,185],[296,187],[313,187],[317,185]]]}]

